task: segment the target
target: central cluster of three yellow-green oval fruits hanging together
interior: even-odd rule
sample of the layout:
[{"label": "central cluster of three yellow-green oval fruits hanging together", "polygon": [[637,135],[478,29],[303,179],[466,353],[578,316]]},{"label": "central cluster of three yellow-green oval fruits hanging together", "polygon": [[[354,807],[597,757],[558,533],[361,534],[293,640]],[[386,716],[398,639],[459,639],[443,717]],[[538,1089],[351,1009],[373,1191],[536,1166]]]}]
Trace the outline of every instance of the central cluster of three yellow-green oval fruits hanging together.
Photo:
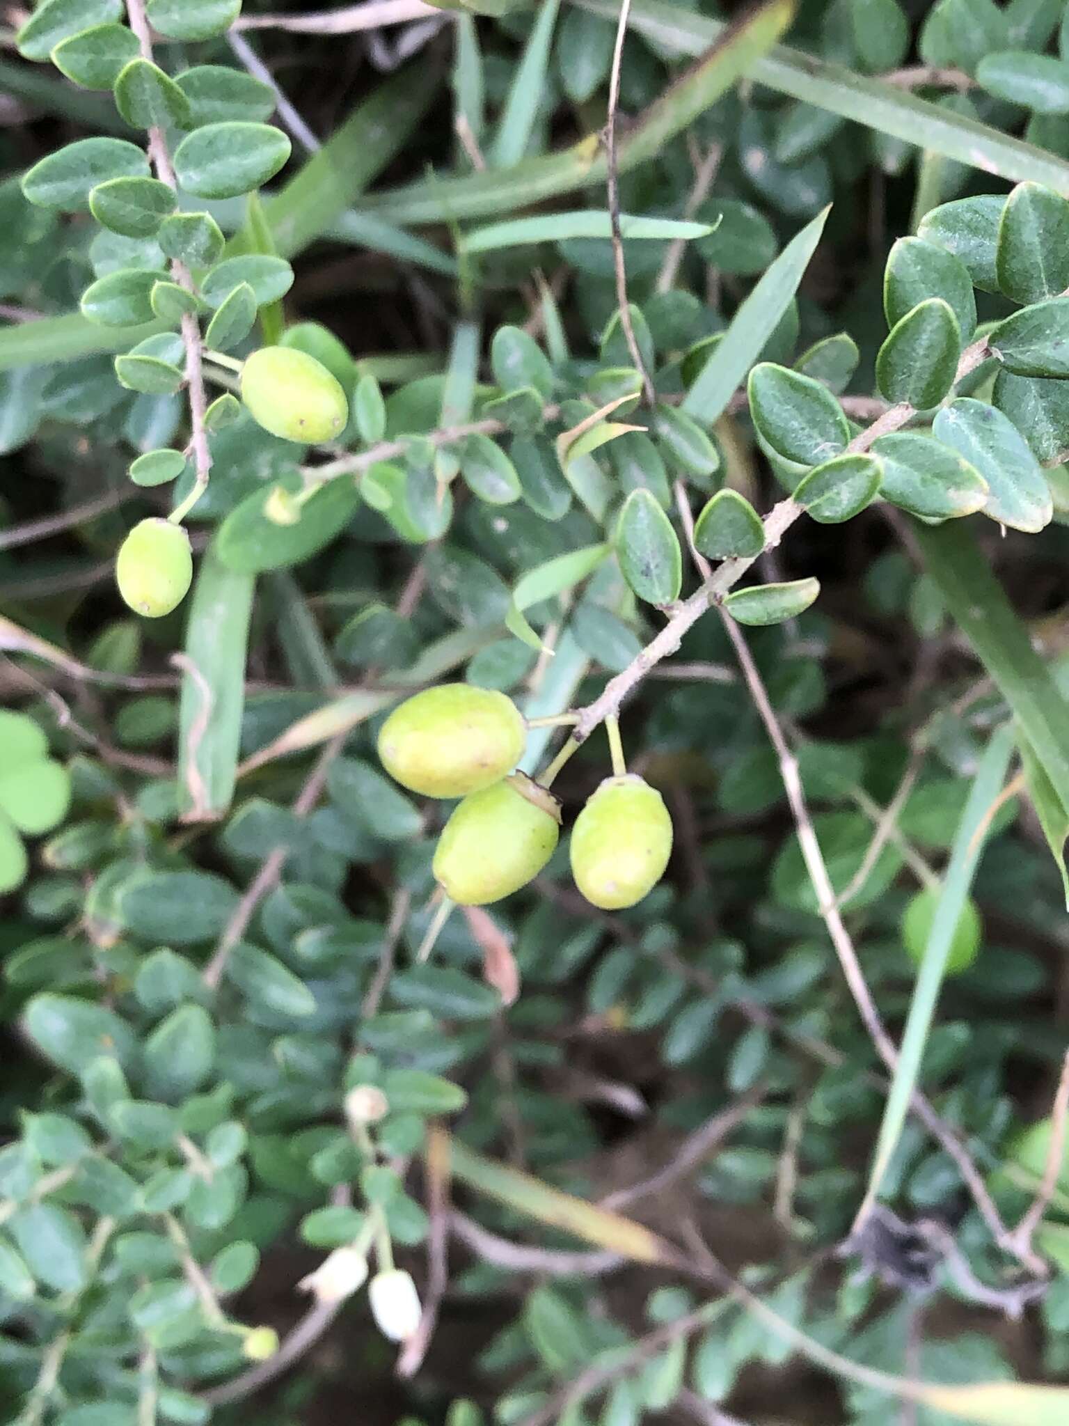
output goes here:
[{"label": "central cluster of three yellow-green oval fruits hanging together", "polygon": [[[459,906],[487,906],[527,886],[553,856],[560,803],[526,773],[527,724],[503,693],[445,683],[408,699],[379,733],[379,757],[402,787],[459,797],[435,850],[435,877]],[[664,799],[633,773],[606,777],[572,829],[572,874],[606,911],[634,906],[671,856]]]}]

